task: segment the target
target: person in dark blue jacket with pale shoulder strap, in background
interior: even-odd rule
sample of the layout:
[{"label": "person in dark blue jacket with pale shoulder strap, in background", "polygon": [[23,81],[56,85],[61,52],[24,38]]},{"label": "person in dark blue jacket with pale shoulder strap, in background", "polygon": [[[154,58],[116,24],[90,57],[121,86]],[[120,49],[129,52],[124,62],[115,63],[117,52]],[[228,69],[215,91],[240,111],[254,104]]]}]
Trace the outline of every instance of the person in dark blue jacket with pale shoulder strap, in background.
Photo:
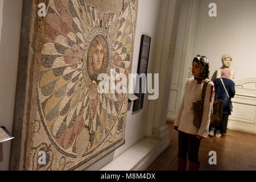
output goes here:
[{"label": "person in dark blue jacket with pale shoulder strap, in background", "polygon": [[[217,100],[223,100],[222,105],[222,123],[220,126],[214,128],[212,127],[209,132],[209,136],[214,136],[214,131],[216,131],[215,137],[219,138],[226,133],[226,127],[228,126],[228,118],[231,115],[232,104],[231,98],[236,94],[236,90],[234,88],[235,84],[231,80],[231,72],[229,68],[224,68],[221,73],[221,78],[216,78],[214,80],[214,86],[216,89],[215,98]],[[223,85],[223,84],[225,85]],[[225,90],[226,89],[226,90]],[[228,93],[227,93],[228,92]]]}]

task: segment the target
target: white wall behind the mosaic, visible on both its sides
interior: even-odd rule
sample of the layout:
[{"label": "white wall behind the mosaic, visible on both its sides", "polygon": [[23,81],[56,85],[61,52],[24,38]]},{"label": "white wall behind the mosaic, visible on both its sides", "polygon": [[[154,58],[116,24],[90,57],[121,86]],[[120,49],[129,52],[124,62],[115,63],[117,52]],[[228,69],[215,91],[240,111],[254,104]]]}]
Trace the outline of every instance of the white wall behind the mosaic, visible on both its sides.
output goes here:
[{"label": "white wall behind the mosaic, visible on both its sides", "polygon": [[[164,1],[139,0],[133,64],[131,69],[132,73],[137,73],[139,47],[142,34],[146,34],[152,38],[148,73],[152,72],[155,61],[154,57],[158,31],[160,31],[161,28],[164,28],[159,28],[159,14],[161,11],[161,5],[163,5]],[[0,89],[0,125],[5,126],[12,133],[22,1],[1,1],[0,12],[0,74],[2,78]],[[133,113],[132,109],[133,105],[129,105],[126,121],[125,144],[118,148],[118,150],[115,150],[108,156],[105,156],[105,158],[101,159],[89,169],[100,169],[146,136],[148,115],[147,95],[145,96],[144,107],[142,110],[137,113]],[[9,168],[10,147],[11,142],[5,142],[3,144],[4,160],[3,162],[0,162],[0,170],[7,170]]]}]

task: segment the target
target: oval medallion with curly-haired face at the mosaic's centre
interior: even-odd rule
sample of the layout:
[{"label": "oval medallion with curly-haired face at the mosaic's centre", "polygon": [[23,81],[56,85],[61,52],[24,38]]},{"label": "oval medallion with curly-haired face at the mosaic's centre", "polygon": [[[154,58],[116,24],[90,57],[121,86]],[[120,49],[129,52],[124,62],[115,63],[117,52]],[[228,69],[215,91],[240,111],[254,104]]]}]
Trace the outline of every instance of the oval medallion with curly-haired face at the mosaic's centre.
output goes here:
[{"label": "oval medallion with curly-haired face at the mosaic's centre", "polygon": [[106,73],[109,61],[109,47],[106,38],[98,34],[90,43],[87,54],[87,72],[91,80],[97,81],[100,73]]}]

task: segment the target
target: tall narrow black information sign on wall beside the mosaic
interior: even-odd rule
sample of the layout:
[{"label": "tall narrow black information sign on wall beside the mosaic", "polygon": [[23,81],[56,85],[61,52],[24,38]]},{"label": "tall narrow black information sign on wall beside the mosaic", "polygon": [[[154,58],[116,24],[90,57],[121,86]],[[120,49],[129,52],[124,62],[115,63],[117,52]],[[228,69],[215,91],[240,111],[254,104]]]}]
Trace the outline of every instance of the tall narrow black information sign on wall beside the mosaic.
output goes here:
[{"label": "tall narrow black information sign on wall beside the mosaic", "polygon": [[[138,65],[138,71],[137,73],[141,75],[144,73],[147,75],[147,67],[148,67],[148,57],[150,53],[150,43],[151,43],[151,37],[147,35],[142,35],[141,37],[141,49],[139,51],[139,65]],[[144,77],[146,78],[146,77]],[[138,111],[143,108],[143,101],[144,101],[144,93],[143,90],[145,88],[146,80],[144,80],[143,85],[142,85],[142,79],[143,77],[139,77],[137,79],[137,82],[139,81],[139,93],[135,93],[137,97],[139,97],[138,100],[134,101],[133,104],[133,111]],[[136,84],[138,86],[138,84]],[[136,88],[137,90],[138,88]]]}]

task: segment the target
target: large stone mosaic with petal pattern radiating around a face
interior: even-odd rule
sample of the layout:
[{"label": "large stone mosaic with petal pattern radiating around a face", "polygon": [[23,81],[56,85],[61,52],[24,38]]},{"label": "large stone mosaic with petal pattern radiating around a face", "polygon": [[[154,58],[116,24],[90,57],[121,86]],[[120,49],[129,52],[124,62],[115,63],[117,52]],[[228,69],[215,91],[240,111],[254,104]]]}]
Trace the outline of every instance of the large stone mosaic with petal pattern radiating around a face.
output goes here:
[{"label": "large stone mosaic with petal pattern radiating around a face", "polygon": [[[114,14],[84,0],[46,1],[35,39],[37,109],[26,169],[84,169],[124,143],[127,94],[97,91],[100,73],[130,73],[137,1],[119,2]],[[38,163],[40,151],[46,163]]]}]

